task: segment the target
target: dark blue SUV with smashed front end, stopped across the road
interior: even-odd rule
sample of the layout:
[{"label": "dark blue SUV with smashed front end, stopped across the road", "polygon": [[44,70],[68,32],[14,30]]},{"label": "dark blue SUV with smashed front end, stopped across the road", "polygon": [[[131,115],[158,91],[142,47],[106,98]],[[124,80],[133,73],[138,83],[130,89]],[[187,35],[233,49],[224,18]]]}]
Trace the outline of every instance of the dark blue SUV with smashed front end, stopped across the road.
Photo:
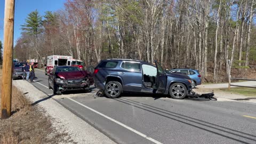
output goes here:
[{"label": "dark blue SUV with smashed front end, stopped across the road", "polygon": [[95,86],[108,98],[117,98],[122,92],[170,94],[183,99],[191,91],[191,79],[182,74],[167,74],[156,62],[130,59],[107,59],[94,69]]}]

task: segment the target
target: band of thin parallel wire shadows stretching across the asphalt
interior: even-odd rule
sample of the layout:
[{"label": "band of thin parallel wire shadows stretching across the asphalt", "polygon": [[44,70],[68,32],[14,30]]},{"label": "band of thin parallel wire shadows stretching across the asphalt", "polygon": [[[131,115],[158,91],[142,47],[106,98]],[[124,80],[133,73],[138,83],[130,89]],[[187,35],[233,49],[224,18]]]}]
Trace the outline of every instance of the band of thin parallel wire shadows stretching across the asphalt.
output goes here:
[{"label": "band of thin parallel wire shadows stretching across the asphalt", "polygon": [[120,99],[115,99],[115,100],[125,103],[126,105],[131,105],[133,107],[149,111],[150,113],[154,113],[156,115],[160,115],[165,118],[169,118],[172,121],[177,121],[177,122],[189,125],[189,126],[193,126],[198,129],[204,130],[206,132],[217,134],[221,137],[225,137],[225,138],[228,138],[230,140],[234,140],[234,141],[237,141],[240,143],[250,143],[250,142],[248,142],[248,140],[253,141],[253,143],[256,142],[256,135],[253,135],[250,133],[231,129],[231,128],[228,128],[225,126],[221,126],[219,124],[206,122],[201,119],[182,115],[182,114],[170,111],[170,110],[150,106],[145,103],[141,103],[141,102],[126,99],[126,98],[120,98]]}]

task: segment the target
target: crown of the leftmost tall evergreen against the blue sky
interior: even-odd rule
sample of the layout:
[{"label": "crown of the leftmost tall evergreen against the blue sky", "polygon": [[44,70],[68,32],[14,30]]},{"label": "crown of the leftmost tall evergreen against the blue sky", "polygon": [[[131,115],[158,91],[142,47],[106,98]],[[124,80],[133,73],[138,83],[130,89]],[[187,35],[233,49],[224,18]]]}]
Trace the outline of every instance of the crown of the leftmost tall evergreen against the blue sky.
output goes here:
[{"label": "crown of the leftmost tall evergreen against the blue sky", "polygon": [[36,37],[38,34],[42,33],[42,17],[39,15],[37,10],[29,13],[25,21],[25,24],[21,25],[23,33]]}]

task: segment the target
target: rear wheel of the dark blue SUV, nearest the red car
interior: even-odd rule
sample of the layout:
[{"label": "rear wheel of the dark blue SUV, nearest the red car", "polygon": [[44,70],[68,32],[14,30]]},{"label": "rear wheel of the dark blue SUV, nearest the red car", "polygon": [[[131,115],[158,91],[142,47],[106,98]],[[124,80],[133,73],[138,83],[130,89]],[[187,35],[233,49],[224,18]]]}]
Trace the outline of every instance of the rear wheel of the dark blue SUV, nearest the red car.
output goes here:
[{"label": "rear wheel of the dark blue SUV, nearest the red car", "polygon": [[118,98],[122,92],[123,87],[119,82],[110,81],[105,85],[104,93],[107,95],[108,98]]}]

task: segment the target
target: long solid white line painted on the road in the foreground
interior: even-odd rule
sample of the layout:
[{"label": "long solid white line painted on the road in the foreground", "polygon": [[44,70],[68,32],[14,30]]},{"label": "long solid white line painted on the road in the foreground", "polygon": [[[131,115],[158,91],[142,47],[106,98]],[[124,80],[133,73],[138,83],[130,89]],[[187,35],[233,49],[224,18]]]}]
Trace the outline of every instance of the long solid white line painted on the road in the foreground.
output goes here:
[{"label": "long solid white line painted on the road in the foreground", "polygon": [[79,105],[81,105],[81,106],[83,106],[83,107],[85,107],[85,108],[87,108],[87,109],[93,111],[94,113],[97,113],[97,114],[99,114],[99,115],[101,115],[101,116],[103,116],[103,117],[109,119],[109,120],[112,121],[112,122],[115,122],[115,123],[117,123],[117,124],[119,124],[119,125],[125,127],[126,129],[128,129],[128,130],[130,130],[130,131],[132,131],[132,132],[134,132],[134,133],[137,133],[138,135],[140,135],[140,136],[143,137],[143,138],[146,138],[146,139],[148,139],[148,140],[150,140],[150,141],[152,141],[152,142],[154,142],[154,143],[157,143],[157,144],[162,144],[161,142],[159,142],[159,141],[157,141],[157,140],[155,140],[155,139],[153,139],[153,138],[150,138],[150,137],[148,137],[147,135],[145,135],[145,134],[143,134],[143,133],[141,133],[141,132],[139,132],[139,131],[137,131],[137,130],[132,129],[132,127],[129,127],[129,126],[127,126],[127,125],[125,125],[125,124],[123,124],[123,123],[121,123],[121,122],[118,122],[118,121],[116,121],[115,119],[113,119],[113,118],[111,118],[111,117],[109,117],[109,116],[106,116],[106,115],[100,113],[100,112],[97,111],[97,110],[94,110],[94,109],[92,109],[92,108],[90,108],[90,107],[87,107],[87,106],[83,105],[82,103],[77,102],[77,101],[75,101],[75,100],[73,100],[73,99],[71,99],[71,98],[68,98],[68,99],[70,99],[71,101],[74,101],[74,102],[78,103]]}]

